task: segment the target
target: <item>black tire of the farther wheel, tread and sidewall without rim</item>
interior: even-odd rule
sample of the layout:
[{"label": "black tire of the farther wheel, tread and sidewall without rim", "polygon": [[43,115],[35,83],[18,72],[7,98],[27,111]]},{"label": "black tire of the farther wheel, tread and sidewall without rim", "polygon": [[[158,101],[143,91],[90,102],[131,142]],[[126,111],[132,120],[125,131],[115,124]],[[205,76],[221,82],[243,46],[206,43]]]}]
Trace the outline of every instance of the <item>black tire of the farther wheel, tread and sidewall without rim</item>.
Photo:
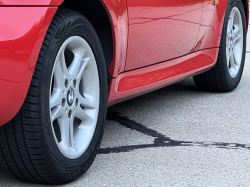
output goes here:
[{"label": "black tire of the farther wheel, tread and sidewall without rim", "polygon": [[[240,10],[243,22],[243,53],[242,63],[239,72],[235,78],[232,78],[227,68],[226,60],[226,37],[227,26],[231,10],[237,7]],[[233,91],[240,83],[246,56],[246,18],[244,6],[241,0],[230,0],[227,6],[224,26],[222,30],[219,54],[216,65],[209,71],[193,77],[196,86],[203,91],[210,92],[230,92]]]}]

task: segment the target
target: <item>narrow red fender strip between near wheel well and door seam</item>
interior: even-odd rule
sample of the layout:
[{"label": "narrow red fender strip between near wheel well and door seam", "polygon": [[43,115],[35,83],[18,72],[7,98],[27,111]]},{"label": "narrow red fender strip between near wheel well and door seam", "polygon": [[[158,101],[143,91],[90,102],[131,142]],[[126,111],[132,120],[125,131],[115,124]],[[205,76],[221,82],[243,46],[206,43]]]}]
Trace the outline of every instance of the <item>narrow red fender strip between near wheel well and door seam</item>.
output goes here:
[{"label": "narrow red fender strip between near wheel well and door seam", "polygon": [[114,40],[114,56],[110,66],[110,74],[116,77],[125,69],[128,41],[128,13],[126,1],[103,0],[106,12],[110,16]]}]

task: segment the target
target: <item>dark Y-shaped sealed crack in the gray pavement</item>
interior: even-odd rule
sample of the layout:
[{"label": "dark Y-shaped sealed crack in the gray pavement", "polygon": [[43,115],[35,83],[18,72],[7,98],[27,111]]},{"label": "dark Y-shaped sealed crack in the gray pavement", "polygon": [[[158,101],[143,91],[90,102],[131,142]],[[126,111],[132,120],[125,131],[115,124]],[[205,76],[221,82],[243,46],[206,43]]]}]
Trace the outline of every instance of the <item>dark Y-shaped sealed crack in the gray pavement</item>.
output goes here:
[{"label": "dark Y-shaped sealed crack in the gray pavement", "polygon": [[250,150],[250,144],[239,144],[239,143],[224,143],[224,142],[193,142],[193,141],[179,141],[173,140],[170,137],[166,137],[159,132],[149,129],[140,123],[137,123],[126,116],[123,116],[117,112],[108,111],[107,120],[116,121],[120,125],[125,126],[129,129],[136,130],[142,134],[154,137],[153,144],[139,144],[139,145],[128,145],[112,148],[101,148],[99,154],[109,153],[121,153],[130,152],[136,149],[155,148],[155,147],[185,147],[185,146],[201,146],[201,147],[213,147],[220,149],[247,149]]}]

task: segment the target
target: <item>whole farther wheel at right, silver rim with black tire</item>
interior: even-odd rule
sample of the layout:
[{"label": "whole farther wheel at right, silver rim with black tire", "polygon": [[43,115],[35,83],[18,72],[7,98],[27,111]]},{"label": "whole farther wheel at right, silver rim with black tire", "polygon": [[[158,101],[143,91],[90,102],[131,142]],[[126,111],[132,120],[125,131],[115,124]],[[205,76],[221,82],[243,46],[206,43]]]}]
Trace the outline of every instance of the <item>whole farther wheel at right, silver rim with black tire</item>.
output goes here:
[{"label": "whole farther wheel at right, silver rim with black tire", "polygon": [[240,83],[246,55],[246,18],[241,0],[227,6],[216,65],[194,77],[205,91],[230,92]]}]

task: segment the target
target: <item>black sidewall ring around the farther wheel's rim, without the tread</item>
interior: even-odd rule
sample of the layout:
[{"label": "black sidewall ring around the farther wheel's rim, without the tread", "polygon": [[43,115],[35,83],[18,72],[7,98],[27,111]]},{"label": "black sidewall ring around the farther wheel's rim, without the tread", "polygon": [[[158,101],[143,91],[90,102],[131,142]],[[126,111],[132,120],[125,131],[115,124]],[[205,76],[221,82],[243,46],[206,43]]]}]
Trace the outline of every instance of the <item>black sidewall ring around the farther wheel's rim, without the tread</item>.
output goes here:
[{"label": "black sidewall ring around the farther wheel's rim, without the tread", "polygon": [[[226,37],[227,37],[227,27],[228,27],[228,20],[230,13],[234,7],[237,7],[240,10],[241,17],[242,17],[242,24],[243,24],[243,52],[242,52],[242,61],[239,72],[235,78],[232,78],[227,67],[227,57],[226,57]],[[224,69],[225,69],[225,77],[227,84],[230,90],[235,89],[238,84],[240,83],[243,70],[244,70],[244,63],[245,63],[245,56],[246,56],[246,17],[244,12],[243,4],[240,0],[230,0],[227,6],[225,20],[224,20],[224,27],[223,27],[223,62],[224,62]]]}]

